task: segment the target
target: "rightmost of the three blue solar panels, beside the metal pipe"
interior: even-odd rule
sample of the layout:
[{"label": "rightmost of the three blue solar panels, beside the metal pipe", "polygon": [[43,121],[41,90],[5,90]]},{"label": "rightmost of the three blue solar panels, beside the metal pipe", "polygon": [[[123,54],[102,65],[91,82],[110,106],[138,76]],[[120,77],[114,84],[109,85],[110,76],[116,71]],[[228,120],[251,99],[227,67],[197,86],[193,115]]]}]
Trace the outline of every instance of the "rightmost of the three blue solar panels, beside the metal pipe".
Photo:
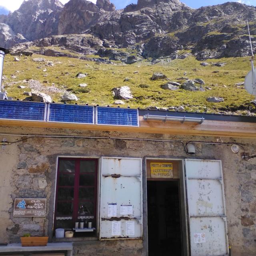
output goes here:
[{"label": "rightmost of the three blue solar panels, beside the metal pipe", "polygon": [[138,110],[97,107],[96,122],[103,125],[139,126]]}]

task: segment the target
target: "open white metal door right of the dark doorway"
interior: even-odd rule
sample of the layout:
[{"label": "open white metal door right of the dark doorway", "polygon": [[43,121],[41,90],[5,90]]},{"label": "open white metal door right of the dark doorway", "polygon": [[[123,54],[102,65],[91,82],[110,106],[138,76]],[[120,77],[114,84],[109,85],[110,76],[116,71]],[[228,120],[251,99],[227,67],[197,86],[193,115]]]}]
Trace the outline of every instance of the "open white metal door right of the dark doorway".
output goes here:
[{"label": "open white metal door right of the dark doorway", "polygon": [[191,256],[228,255],[221,161],[185,160]]}]

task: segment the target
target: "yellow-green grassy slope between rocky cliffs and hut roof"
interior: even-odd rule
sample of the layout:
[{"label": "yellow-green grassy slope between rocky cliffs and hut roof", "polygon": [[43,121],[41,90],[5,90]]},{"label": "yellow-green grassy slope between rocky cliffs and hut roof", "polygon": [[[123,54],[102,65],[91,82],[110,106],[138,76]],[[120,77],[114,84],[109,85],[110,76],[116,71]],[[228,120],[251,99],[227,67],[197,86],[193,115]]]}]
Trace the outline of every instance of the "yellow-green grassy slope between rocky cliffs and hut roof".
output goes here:
[{"label": "yellow-green grassy slope between rocky cliffs and hut roof", "polygon": [[[32,59],[43,57],[46,60],[54,62],[54,67],[44,66],[45,62],[33,62]],[[61,62],[61,63],[58,63]],[[8,80],[4,84],[10,82],[18,82],[10,86],[6,86],[8,96],[13,98],[24,99],[23,91],[30,91],[29,88],[18,89],[18,85],[25,79],[34,79],[44,82],[45,86],[52,83],[57,88],[68,89],[78,96],[78,104],[99,104],[101,106],[111,105],[114,103],[111,89],[120,86],[129,86],[131,88],[134,99],[126,101],[124,106],[146,108],[148,106],[158,107],[178,107],[183,105],[187,111],[207,111],[220,112],[221,110],[233,110],[238,114],[246,114],[243,110],[244,106],[248,107],[254,96],[248,94],[243,88],[235,86],[238,82],[244,81],[244,76],[250,70],[249,58],[224,58],[218,60],[208,60],[210,62],[227,62],[224,67],[200,65],[194,57],[190,56],[184,60],[173,60],[169,64],[151,65],[150,62],[142,61],[132,65],[124,65],[116,62],[115,65],[88,62],[76,58],[64,57],[48,57],[33,55],[32,57],[20,57],[20,62],[14,62],[14,57],[7,55],[4,63],[4,75]],[[75,66],[72,66],[72,65]],[[37,67],[41,66],[41,69]],[[44,67],[46,72],[42,70]],[[193,71],[193,69],[197,69]],[[16,73],[19,70],[19,73]],[[212,73],[218,70],[219,73]],[[134,74],[138,71],[138,74]],[[68,74],[66,74],[68,72]],[[86,72],[89,75],[86,78],[75,78],[78,72]],[[189,92],[185,90],[169,91],[160,88],[164,81],[151,81],[150,77],[154,72],[163,72],[172,81],[176,78],[184,76],[190,79],[201,78],[206,82],[205,87],[212,88],[206,92]],[[10,76],[14,74],[16,78]],[[47,74],[46,77],[43,75]],[[124,78],[131,78],[128,82],[123,82]],[[46,83],[46,81],[48,83]],[[83,89],[78,87],[80,83],[88,84],[90,92],[83,93]],[[140,84],[147,84],[148,88],[140,88]],[[226,87],[225,87],[225,86]],[[60,94],[50,94],[55,102],[60,102]],[[209,103],[206,98],[209,96],[223,97],[222,103]]]}]

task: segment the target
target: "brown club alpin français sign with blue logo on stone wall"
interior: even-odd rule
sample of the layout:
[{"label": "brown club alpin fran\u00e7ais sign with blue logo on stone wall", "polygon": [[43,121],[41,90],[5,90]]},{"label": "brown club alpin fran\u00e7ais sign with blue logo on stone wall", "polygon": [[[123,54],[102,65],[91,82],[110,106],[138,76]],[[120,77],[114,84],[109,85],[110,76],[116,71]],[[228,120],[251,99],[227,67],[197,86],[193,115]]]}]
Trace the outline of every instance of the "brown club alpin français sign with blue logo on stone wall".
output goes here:
[{"label": "brown club alpin fran\u00e7ais sign with blue logo on stone wall", "polygon": [[44,217],[46,198],[15,198],[14,217]]}]

